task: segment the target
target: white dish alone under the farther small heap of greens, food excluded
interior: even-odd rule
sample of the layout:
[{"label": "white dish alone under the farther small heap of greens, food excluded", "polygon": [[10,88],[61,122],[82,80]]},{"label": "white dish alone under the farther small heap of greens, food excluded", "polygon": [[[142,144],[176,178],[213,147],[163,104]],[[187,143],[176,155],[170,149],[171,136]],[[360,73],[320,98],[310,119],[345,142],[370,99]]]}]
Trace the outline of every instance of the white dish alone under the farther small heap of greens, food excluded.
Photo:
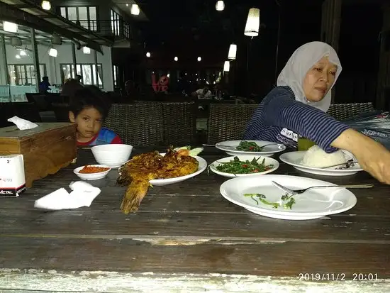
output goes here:
[{"label": "white dish alone under the farther small heap of greens, food excluded", "polygon": [[242,141],[249,141],[253,143],[257,143],[257,145],[268,145],[269,143],[274,143],[272,141],[264,141],[264,140],[228,140],[222,141],[221,143],[216,144],[216,148],[220,150],[224,150],[228,155],[262,155],[263,157],[270,157],[274,155],[274,153],[279,153],[286,150],[286,145],[282,143],[274,145],[266,146],[261,152],[245,152],[243,150],[236,150],[235,148],[240,145]]}]

